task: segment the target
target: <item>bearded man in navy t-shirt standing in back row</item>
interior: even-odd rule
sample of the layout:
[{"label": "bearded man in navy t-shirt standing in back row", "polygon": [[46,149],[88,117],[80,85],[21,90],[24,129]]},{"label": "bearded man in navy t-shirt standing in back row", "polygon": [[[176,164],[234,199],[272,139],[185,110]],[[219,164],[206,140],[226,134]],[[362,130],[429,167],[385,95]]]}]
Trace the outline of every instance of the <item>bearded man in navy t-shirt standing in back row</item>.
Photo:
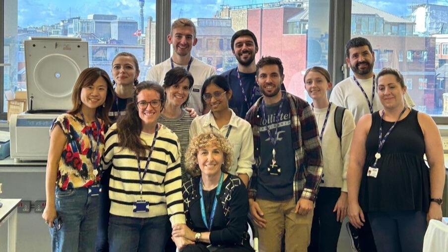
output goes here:
[{"label": "bearded man in navy t-shirt standing in back row", "polygon": [[[255,55],[258,52],[258,43],[252,31],[239,30],[233,34],[230,47],[238,66],[221,75],[227,79],[232,89],[229,107],[239,117],[244,118],[249,108],[261,96],[260,88],[255,81]],[[281,88],[285,90],[283,84]]]}]

